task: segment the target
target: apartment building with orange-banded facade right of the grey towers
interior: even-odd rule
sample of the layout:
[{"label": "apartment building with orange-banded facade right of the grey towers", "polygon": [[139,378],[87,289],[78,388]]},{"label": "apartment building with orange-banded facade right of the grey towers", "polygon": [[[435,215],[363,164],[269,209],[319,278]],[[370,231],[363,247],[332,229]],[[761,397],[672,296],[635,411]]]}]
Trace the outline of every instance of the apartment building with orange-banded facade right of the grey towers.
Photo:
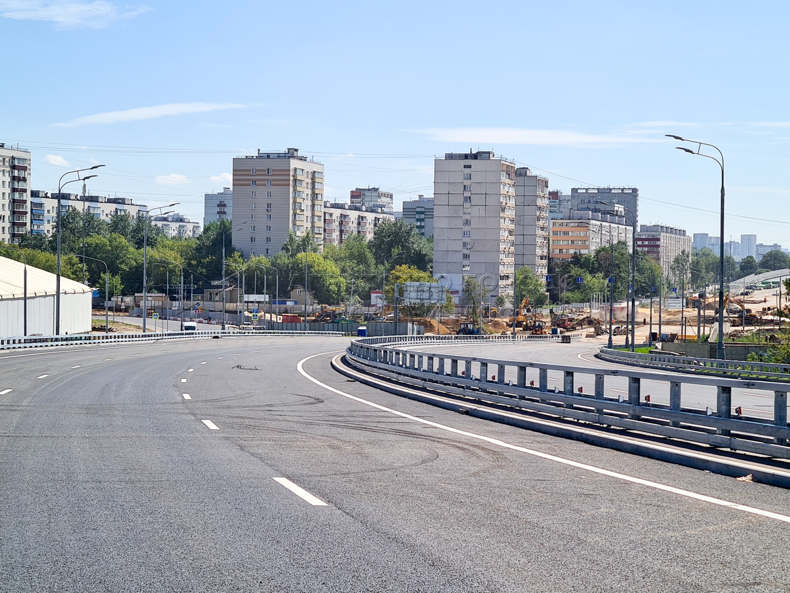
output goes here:
[{"label": "apartment building with orange-banded facade right of the grey towers", "polygon": [[598,247],[622,241],[632,250],[634,228],[626,224],[622,206],[613,211],[570,210],[566,217],[551,221],[551,260],[562,263],[574,255],[594,253]]}]

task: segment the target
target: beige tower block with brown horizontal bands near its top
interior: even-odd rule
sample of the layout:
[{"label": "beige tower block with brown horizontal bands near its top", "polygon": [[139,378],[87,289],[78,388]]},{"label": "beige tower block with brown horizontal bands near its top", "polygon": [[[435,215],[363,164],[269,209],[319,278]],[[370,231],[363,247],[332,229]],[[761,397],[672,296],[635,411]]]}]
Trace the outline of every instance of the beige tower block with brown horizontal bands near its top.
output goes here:
[{"label": "beige tower block with brown horizontal bands near its top", "polygon": [[322,243],[323,208],[324,165],[299,149],[233,159],[233,244],[245,257],[274,255],[289,231]]}]

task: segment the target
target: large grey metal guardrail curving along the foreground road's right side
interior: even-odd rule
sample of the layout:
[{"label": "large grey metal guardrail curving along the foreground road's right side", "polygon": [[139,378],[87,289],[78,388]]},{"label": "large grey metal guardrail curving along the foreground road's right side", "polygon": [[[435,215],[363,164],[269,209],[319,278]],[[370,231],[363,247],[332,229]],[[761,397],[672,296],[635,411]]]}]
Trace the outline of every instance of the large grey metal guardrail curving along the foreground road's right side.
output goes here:
[{"label": "large grey metal guardrail curving along the foreground road's right side", "polygon": [[[790,459],[790,448],[787,446],[790,439],[787,423],[788,385],[784,383],[713,376],[672,376],[641,370],[416,352],[400,348],[402,342],[393,342],[392,338],[389,340],[389,343],[386,338],[352,340],[347,349],[349,363],[418,387],[447,391],[484,402],[717,448]],[[412,339],[408,343],[416,341]],[[493,369],[495,372],[489,378]],[[505,381],[508,371],[515,372],[515,383],[512,380]],[[549,390],[549,371],[562,372],[562,391],[556,388],[555,391]],[[529,380],[530,372],[535,373],[535,379]],[[577,391],[574,387],[577,375],[594,378],[592,394],[584,394],[581,389]],[[627,397],[615,399],[604,395],[608,377],[626,378]],[[641,390],[643,380],[667,384],[669,405],[647,401],[649,398],[645,399]],[[699,410],[683,406],[684,384],[716,387],[717,409]],[[773,391],[773,421],[734,414],[734,388]]]}]

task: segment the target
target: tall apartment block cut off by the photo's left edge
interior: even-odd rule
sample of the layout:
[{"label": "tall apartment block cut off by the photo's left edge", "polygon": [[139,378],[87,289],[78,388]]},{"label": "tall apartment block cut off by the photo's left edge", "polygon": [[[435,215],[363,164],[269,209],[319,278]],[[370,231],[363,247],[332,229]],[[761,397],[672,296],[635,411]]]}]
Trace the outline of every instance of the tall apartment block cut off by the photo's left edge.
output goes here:
[{"label": "tall apartment block cut off by the photo's left edge", "polygon": [[30,151],[0,142],[0,241],[19,243],[30,229]]}]

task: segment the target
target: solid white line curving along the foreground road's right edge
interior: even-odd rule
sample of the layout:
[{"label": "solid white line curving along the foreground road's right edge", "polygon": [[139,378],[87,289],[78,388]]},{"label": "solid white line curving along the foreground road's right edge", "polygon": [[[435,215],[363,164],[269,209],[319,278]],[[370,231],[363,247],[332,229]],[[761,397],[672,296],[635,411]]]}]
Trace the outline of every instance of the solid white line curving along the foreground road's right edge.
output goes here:
[{"label": "solid white line curving along the foreground road's right edge", "polygon": [[[337,351],[335,351],[335,352],[337,352]],[[777,521],[784,521],[784,523],[790,523],[790,516],[787,516],[787,515],[780,515],[779,513],[776,513],[776,512],[764,511],[762,508],[749,507],[749,506],[747,506],[745,504],[737,504],[737,503],[734,503],[734,502],[730,502],[729,500],[723,500],[723,499],[720,499],[720,498],[714,498],[714,497],[705,496],[705,494],[699,494],[699,493],[691,492],[690,490],[683,490],[683,489],[680,489],[680,488],[675,488],[675,486],[670,486],[670,485],[666,485],[666,484],[660,484],[659,482],[651,482],[649,480],[643,480],[641,478],[634,478],[633,476],[629,476],[629,475],[626,475],[626,474],[619,474],[616,471],[604,470],[601,467],[590,466],[590,465],[588,465],[586,463],[579,463],[577,461],[572,461],[570,459],[564,459],[562,457],[557,457],[556,455],[549,455],[548,453],[544,453],[543,451],[535,451],[534,449],[528,449],[528,448],[525,448],[525,447],[519,447],[517,445],[506,443],[503,440],[498,440],[498,439],[491,438],[491,436],[483,436],[483,435],[475,434],[474,432],[467,432],[465,430],[453,429],[452,426],[446,426],[446,425],[438,424],[438,422],[432,422],[430,420],[424,420],[423,418],[412,416],[411,414],[404,414],[404,412],[399,412],[398,410],[393,410],[392,408],[388,408],[386,406],[381,406],[378,403],[369,402],[369,401],[367,401],[367,399],[358,398],[355,395],[351,395],[351,394],[345,393],[344,391],[340,391],[339,389],[335,389],[334,387],[330,387],[326,383],[322,383],[318,379],[315,379],[314,377],[308,375],[307,372],[304,370],[304,368],[303,368],[304,363],[309,361],[311,358],[325,356],[326,354],[333,354],[335,352],[325,352],[325,353],[321,353],[321,354],[313,354],[313,356],[310,356],[310,357],[307,357],[307,358],[303,358],[301,361],[299,361],[298,364],[296,364],[296,369],[299,371],[299,374],[304,376],[307,380],[312,381],[316,385],[318,385],[320,387],[323,387],[324,389],[326,389],[328,391],[332,391],[333,393],[337,393],[337,395],[342,395],[344,398],[352,399],[355,402],[363,403],[366,406],[374,407],[377,410],[382,410],[384,412],[389,412],[390,414],[395,414],[396,416],[407,418],[408,420],[419,422],[419,423],[424,424],[424,425],[433,426],[434,428],[446,430],[448,432],[454,432],[455,434],[461,434],[461,435],[464,435],[464,436],[469,436],[472,439],[484,440],[487,443],[495,444],[495,445],[498,445],[499,447],[502,447],[502,448],[512,449],[513,451],[521,451],[522,453],[527,453],[528,455],[534,455],[535,457],[540,457],[541,459],[547,459],[549,461],[555,461],[557,463],[562,463],[563,465],[566,465],[566,466],[577,467],[580,470],[592,471],[595,474],[608,476],[609,478],[617,478],[619,480],[623,480],[624,482],[631,482],[633,484],[639,484],[639,485],[643,485],[643,486],[648,486],[649,488],[654,488],[654,489],[657,489],[657,490],[664,490],[664,492],[679,494],[680,496],[683,496],[683,497],[693,498],[695,500],[702,500],[703,502],[708,502],[710,504],[717,504],[717,505],[722,506],[722,507],[734,508],[735,510],[738,510],[738,511],[750,512],[750,513],[752,513],[754,515],[767,517],[769,519],[777,519]]]}]

